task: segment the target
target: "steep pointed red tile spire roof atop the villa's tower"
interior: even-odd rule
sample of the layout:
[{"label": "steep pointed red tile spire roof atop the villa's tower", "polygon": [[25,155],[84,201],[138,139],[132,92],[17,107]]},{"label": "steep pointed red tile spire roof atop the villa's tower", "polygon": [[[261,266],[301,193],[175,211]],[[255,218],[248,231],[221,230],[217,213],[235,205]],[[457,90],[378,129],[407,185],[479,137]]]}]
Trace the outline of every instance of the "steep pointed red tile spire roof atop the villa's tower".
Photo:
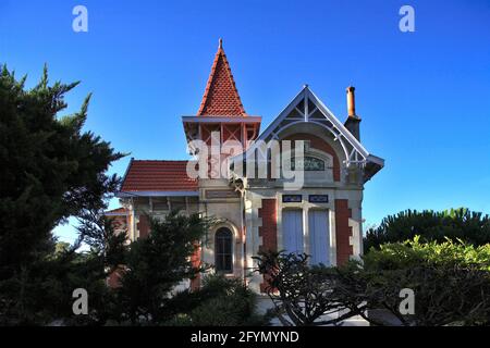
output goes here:
[{"label": "steep pointed red tile spire roof atop the villa's tower", "polygon": [[221,39],[197,115],[246,116]]}]

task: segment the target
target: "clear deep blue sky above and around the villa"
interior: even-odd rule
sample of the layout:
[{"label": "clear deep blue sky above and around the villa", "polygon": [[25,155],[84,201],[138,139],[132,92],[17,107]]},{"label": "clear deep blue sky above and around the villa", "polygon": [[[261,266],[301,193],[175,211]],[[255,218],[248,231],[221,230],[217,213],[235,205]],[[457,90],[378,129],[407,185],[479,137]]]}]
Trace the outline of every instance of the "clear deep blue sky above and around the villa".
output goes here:
[{"label": "clear deep blue sky above and around the villa", "polygon": [[[76,4],[88,33],[72,30]],[[403,4],[415,33],[399,30]],[[367,223],[407,208],[490,213],[489,0],[0,2],[0,62],[30,86],[45,62],[52,82],[82,80],[68,112],[93,91],[87,129],[137,159],[186,158],[180,116],[198,110],[219,37],[262,129],[305,83],[343,120],[356,86],[363,142],[385,159]]]}]

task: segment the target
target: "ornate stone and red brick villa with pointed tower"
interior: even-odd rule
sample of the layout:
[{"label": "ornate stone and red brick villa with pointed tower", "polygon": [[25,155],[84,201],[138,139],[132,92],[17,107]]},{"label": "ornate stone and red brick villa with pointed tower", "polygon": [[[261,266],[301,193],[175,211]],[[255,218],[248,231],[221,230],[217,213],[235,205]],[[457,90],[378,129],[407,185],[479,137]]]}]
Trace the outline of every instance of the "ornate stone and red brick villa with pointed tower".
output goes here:
[{"label": "ornate stone and red brick villa with pointed tower", "polygon": [[[119,219],[131,240],[149,234],[147,214],[180,209],[219,219],[193,262],[241,277],[257,293],[265,283],[250,277],[249,269],[260,250],[306,252],[311,263],[327,265],[359,257],[364,185],[384,160],[360,142],[354,91],[346,89],[347,115],[341,122],[304,86],[260,132],[261,117],[246,113],[220,40],[199,110],[182,124],[192,156],[204,158],[199,144],[209,153],[233,144],[233,151],[206,154],[205,162],[132,159],[118,194],[122,208],[108,215]],[[292,159],[294,173],[301,169],[298,186],[284,175],[283,157]],[[203,170],[203,163],[209,167]],[[226,175],[220,175],[222,167]],[[193,169],[197,177],[189,174]],[[198,287],[199,278],[191,286]]]}]

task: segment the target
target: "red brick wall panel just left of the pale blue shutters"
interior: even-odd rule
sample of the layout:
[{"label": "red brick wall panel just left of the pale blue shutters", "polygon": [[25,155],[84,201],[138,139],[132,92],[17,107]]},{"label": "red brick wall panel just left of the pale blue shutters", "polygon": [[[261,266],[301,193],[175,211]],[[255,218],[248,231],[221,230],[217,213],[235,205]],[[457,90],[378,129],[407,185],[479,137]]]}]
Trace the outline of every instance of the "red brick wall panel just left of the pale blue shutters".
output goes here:
[{"label": "red brick wall panel just left of the pale blue shutters", "polygon": [[[278,201],[275,198],[262,199],[262,208],[258,210],[258,217],[262,219],[262,225],[258,229],[259,237],[262,237],[262,245],[259,251],[278,250]],[[266,291],[267,277],[260,284],[260,291]]]}]

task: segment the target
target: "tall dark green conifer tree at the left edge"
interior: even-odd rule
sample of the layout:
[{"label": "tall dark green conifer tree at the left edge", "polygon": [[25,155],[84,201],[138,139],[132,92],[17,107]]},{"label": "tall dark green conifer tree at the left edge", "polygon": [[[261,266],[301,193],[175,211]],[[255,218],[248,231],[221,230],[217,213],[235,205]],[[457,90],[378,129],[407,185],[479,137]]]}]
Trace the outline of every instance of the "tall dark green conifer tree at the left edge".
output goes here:
[{"label": "tall dark green conifer tree at the left edge", "polygon": [[[64,291],[61,285],[54,286],[58,281],[42,277],[50,274],[51,279],[60,279],[57,272],[66,274],[60,262],[53,263],[56,239],[51,232],[69,216],[105,208],[119,183],[106,172],[123,156],[91,132],[83,130],[90,96],[79,112],[59,115],[66,108],[65,95],[78,83],[49,85],[46,67],[34,88],[26,89],[25,80],[2,67],[0,318],[9,323],[37,322],[46,290],[41,285],[51,287],[50,294],[58,294],[54,288]],[[45,302],[44,308],[48,307]]]}]

